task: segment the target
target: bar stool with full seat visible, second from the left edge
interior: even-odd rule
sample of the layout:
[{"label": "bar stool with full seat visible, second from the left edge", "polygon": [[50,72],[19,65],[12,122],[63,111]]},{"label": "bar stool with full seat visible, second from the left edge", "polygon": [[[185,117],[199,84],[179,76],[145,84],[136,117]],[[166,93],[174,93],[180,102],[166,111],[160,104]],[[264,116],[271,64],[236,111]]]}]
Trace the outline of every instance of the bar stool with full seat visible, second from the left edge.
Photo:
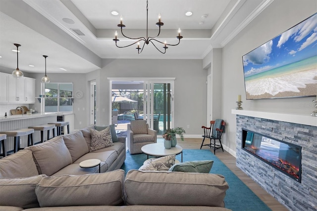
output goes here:
[{"label": "bar stool with full seat visible, second from the left edge", "polygon": [[14,137],[14,150],[13,150],[14,153],[23,149],[23,148],[20,148],[20,136],[28,135],[28,147],[31,146],[31,143],[33,143],[33,133],[34,133],[34,129],[31,129],[31,128],[0,132],[0,134],[5,134],[6,137]]}]

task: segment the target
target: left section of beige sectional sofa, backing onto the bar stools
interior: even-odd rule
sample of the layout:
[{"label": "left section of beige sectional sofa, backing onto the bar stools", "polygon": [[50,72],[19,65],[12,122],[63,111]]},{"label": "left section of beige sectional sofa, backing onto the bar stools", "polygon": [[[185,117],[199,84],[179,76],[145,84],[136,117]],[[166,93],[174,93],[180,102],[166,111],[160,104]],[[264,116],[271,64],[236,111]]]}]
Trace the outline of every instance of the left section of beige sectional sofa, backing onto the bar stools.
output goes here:
[{"label": "left section of beige sectional sofa, backing onto the bar stools", "polygon": [[99,173],[99,166],[92,168],[79,166],[81,161],[93,158],[101,160],[101,172],[119,169],[126,155],[125,137],[116,137],[114,132],[116,138],[113,138],[113,146],[90,152],[90,128],[94,126],[54,137],[0,159],[0,177]]}]

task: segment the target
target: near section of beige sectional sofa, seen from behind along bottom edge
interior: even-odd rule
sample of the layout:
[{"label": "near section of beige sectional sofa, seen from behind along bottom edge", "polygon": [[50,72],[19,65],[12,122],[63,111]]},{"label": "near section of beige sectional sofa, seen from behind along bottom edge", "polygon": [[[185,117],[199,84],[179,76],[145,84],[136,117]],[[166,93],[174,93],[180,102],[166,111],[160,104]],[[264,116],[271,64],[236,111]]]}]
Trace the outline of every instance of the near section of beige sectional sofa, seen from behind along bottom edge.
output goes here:
[{"label": "near section of beige sectional sofa, seen from behind along bottom edge", "polygon": [[228,211],[209,173],[124,170],[0,179],[0,211]]}]

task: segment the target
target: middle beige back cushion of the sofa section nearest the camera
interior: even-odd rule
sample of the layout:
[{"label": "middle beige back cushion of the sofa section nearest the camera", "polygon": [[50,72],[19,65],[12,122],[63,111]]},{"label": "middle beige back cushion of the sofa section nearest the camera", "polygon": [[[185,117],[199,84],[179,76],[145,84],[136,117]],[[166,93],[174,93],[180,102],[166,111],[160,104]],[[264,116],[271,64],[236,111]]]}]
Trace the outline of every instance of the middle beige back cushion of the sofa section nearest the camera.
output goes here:
[{"label": "middle beige back cushion of the sofa section nearest the camera", "polygon": [[45,177],[35,189],[41,207],[122,205],[124,170]]}]

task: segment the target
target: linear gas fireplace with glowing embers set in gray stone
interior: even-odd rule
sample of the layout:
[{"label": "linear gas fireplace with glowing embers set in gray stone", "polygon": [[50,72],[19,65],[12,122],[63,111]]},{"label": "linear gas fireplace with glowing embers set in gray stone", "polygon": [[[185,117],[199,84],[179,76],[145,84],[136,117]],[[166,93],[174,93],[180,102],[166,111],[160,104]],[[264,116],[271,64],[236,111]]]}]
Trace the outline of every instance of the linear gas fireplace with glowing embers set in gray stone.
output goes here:
[{"label": "linear gas fireplace with glowing embers set in gray stone", "polygon": [[242,149],[301,182],[302,147],[242,128]]}]

